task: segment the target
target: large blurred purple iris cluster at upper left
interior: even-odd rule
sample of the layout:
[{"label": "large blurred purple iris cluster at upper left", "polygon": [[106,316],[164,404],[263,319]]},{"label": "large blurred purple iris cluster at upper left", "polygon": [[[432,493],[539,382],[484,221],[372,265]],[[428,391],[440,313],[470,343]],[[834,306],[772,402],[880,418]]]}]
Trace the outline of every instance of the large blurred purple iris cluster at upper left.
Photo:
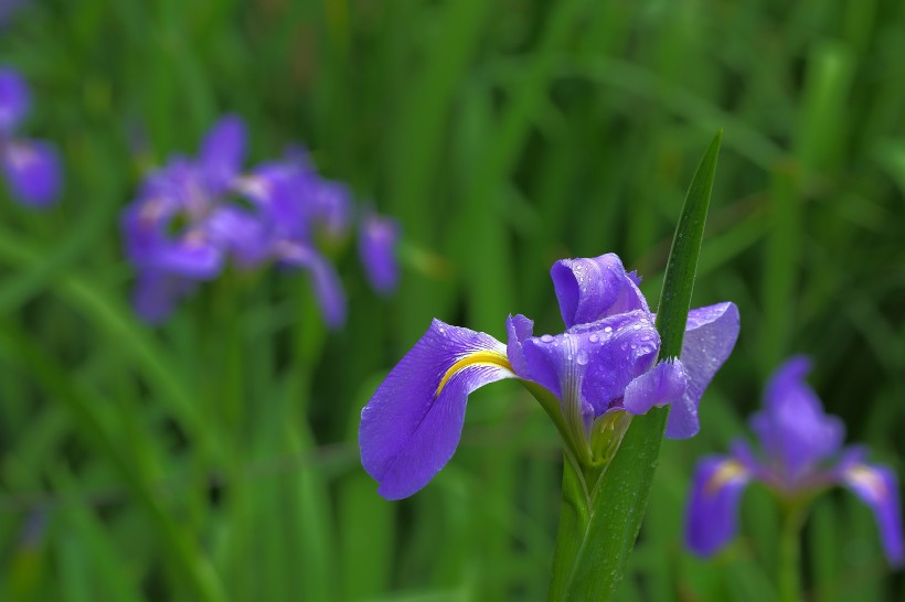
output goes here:
[{"label": "large blurred purple iris cluster at upper left", "polygon": [[333,193],[334,184],[320,180],[301,157],[243,174],[245,146],[242,120],[224,117],[196,159],[172,159],[127,208],[126,247],[139,269],[138,313],[160,322],[196,282],[216,278],[228,259],[242,269],[278,261],[309,272],[326,322],[341,325],[345,297],[332,264],[315,247],[312,229],[321,223],[333,233],[344,228],[349,197]]}]

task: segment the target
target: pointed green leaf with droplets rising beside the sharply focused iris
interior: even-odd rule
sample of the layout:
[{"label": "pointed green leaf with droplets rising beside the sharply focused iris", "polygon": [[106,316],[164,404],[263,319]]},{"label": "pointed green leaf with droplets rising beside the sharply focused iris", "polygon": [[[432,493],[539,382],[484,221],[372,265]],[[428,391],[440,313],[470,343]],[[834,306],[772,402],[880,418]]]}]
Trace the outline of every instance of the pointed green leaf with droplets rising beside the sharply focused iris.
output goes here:
[{"label": "pointed green leaf with droplets rising beside the sharply focused iris", "polygon": [[[672,239],[657,315],[661,358],[678,357],[682,351],[722,137],[720,130],[698,165]],[[569,458],[564,461],[550,600],[614,598],[641,528],[668,417],[669,408],[654,408],[634,418],[619,451],[600,473],[582,471]]]}]

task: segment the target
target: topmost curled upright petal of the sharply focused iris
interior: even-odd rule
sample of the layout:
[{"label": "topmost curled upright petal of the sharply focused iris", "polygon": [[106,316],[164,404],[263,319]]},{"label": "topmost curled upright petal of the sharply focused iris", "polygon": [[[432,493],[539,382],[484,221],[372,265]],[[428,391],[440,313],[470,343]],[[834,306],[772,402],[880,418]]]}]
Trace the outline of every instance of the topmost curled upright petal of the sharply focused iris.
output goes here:
[{"label": "topmost curled upright petal of the sharply focused iris", "polygon": [[634,310],[649,312],[647,300],[626,273],[622,261],[609,252],[592,259],[562,259],[550,270],[567,329]]}]

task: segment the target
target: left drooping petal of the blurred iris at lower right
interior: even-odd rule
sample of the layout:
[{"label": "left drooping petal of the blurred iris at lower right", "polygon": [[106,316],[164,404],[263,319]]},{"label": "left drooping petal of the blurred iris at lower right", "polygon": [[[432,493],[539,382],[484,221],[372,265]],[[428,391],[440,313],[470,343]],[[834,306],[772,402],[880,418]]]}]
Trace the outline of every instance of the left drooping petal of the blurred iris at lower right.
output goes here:
[{"label": "left drooping petal of the blurred iris at lower right", "polygon": [[685,541],[699,556],[711,556],[735,536],[738,501],[750,480],[734,458],[703,458],[694,471],[685,510]]}]

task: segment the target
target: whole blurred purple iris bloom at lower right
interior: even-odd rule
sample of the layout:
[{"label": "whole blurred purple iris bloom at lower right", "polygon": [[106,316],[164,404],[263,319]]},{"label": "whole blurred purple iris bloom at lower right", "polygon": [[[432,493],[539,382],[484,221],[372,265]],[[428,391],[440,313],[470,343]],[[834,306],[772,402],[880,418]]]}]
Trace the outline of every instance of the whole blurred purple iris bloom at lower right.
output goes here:
[{"label": "whole blurred purple iris bloom at lower right", "polygon": [[827,487],[851,490],[874,513],[886,557],[903,562],[898,483],[892,470],[867,464],[863,448],[842,448],[844,426],[826,415],[820,399],[805,383],[807,357],[794,357],[770,378],[765,408],[750,426],[763,454],[742,441],[730,455],[706,456],[698,464],[686,512],[688,546],[710,556],[733,538],[738,502],[745,486],[759,481],[780,498],[807,501]]}]

